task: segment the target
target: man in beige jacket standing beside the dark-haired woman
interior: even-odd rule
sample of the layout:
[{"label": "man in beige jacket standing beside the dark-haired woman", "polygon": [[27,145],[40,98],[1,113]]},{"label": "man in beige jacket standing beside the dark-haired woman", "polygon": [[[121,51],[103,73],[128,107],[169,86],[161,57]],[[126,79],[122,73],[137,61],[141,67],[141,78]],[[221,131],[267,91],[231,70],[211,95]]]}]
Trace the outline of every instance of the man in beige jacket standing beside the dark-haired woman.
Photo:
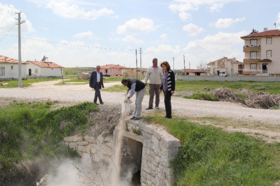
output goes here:
[{"label": "man in beige jacket standing beside the dark-haired woman", "polygon": [[150,80],[149,87],[149,107],[146,110],[153,109],[154,95],[155,95],[155,108],[159,109],[159,89],[162,80],[162,69],[157,66],[157,59],[153,59],[153,65],[148,68],[145,76],[145,85],[147,85],[148,79]]}]

